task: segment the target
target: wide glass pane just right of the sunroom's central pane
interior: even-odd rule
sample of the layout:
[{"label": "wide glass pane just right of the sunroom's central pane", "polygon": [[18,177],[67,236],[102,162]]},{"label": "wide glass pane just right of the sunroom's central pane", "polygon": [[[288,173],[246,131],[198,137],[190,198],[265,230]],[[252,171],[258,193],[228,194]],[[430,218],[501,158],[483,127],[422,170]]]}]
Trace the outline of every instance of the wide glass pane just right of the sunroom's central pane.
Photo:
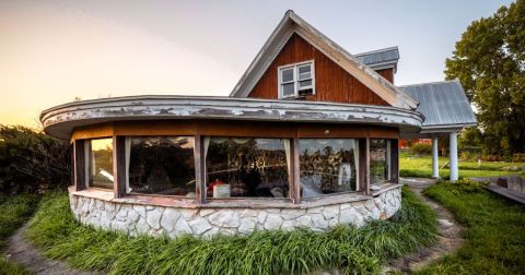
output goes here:
[{"label": "wide glass pane just right of the sunroom's central pane", "polygon": [[358,190],[358,142],[353,139],[301,139],[303,198]]}]

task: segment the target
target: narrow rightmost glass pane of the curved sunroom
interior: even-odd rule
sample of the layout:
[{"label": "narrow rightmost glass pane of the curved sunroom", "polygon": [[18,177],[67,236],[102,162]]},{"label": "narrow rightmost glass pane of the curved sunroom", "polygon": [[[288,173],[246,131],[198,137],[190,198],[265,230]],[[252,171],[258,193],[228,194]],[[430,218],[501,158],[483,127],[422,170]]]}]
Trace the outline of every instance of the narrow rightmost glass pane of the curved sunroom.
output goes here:
[{"label": "narrow rightmost glass pane of the curved sunroom", "polygon": [[370,140],[370,183],[388,180],[386,140]]}]

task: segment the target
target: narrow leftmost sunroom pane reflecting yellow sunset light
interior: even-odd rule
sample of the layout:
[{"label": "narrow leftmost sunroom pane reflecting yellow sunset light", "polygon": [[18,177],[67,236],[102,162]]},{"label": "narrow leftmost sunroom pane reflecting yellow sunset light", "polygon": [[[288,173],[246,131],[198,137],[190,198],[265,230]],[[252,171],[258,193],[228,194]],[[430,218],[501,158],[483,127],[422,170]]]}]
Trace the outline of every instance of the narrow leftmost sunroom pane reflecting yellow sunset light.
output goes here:
[{"label": "narrow leftmost sunroom pane reflecting yellow sunset light", "polygon": [[91,140],[89,148],[90,187],[113,190],[113,139]]}]

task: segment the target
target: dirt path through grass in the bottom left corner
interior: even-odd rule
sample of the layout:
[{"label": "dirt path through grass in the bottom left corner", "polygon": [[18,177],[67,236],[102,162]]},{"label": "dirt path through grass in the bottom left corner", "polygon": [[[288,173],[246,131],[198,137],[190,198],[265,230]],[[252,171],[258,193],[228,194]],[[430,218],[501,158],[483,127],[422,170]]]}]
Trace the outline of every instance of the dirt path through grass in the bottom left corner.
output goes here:
[{"label": "dirt path through grass in the bottom left corner", "polygon": [[63,262],[49,260],[38,252],[33,244],[25,238],[27,224],[19,228],[8,240],[5,255],[9,261],[24,265],[31,274],[55,275],[55,274],[74,274],[74,275],[92,275],[101,274],[93,272],[82,272],[71,270]]}]

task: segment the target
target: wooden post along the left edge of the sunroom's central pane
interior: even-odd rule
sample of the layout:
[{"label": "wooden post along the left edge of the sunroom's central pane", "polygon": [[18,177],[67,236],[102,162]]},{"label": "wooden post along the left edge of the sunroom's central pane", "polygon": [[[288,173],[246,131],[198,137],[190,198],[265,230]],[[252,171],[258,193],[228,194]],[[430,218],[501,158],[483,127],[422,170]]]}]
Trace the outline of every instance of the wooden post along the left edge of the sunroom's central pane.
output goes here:
[{"label": "wooden post along the left edge of the sunroom's central pane", "polygon": [[195,135],[194,142],[194,160],[195,160],[195,199],[197,203],[206,203],[206,157],[205,157],[205,136]]}]

